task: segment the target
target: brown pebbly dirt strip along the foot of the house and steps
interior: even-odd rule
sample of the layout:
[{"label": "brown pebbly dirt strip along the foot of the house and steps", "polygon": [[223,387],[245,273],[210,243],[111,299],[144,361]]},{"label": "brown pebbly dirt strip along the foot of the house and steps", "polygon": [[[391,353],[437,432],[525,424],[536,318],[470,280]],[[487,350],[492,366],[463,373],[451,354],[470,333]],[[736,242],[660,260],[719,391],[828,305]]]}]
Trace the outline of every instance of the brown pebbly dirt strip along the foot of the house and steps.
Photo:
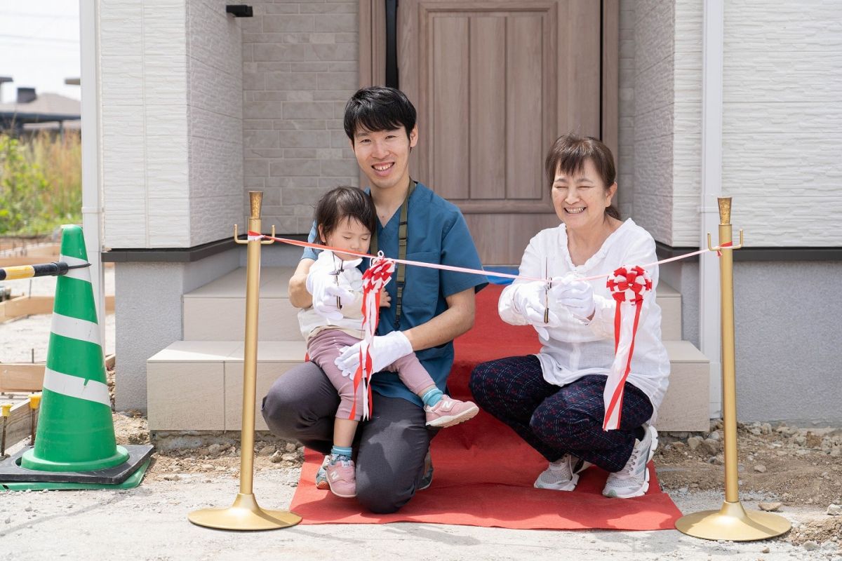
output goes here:
[{"label": "brown pebbly dirt strip along the foot of the house and steps", "polygon": [[[136,411],[115,413],[118,442],[150,442],[146,418]],[[663,489],[687,494],[704,491],[724,493],[722,430],[711,423],[708,434],[664,434],[654,462]],[[147,471],[147,481],[178,481],[184,474],[208,474],[209,478],[239,477],[237,435],[231,433],[160,433]],[[738,474],[741,498],[759,500],[759,507],[787,511],[803,506],[825,511],[842,505],[842,429],[790,426],[739,425]],[[270,434],[255,437],[255,472],[283,470],[297,475],[303,448],[280,441]],[[192,477],[195,478],[195,475]],[[210,482],[207,479],[206,482]],[[842,516],[820,516],[793,527],[783,539],[811,547],[842,541]]]}]

